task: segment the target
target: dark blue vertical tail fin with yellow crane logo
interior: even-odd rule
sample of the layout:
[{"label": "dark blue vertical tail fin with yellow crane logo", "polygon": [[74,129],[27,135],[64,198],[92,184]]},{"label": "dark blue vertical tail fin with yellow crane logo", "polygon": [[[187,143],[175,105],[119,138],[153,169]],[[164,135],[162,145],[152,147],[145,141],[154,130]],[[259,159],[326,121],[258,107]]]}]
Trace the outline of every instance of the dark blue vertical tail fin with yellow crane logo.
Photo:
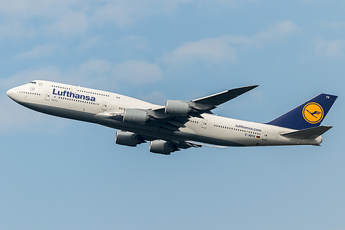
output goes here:
[{"label": "dark blue vertical tail fin with yellow crane logo", "polygon": [[335,99],[335,95],[321,93],[266,124],[297,130],[319,126]]}]

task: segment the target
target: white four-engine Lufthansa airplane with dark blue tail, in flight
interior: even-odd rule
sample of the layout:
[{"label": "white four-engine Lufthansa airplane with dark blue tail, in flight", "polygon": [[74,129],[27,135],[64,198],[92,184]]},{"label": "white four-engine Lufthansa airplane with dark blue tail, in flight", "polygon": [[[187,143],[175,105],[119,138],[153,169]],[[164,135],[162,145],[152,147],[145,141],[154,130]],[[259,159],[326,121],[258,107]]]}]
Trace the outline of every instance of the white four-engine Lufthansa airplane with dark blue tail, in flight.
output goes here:
[{"label": "white four-engine Lufthansa airplane with dark blue tail, in flight", "polygon": [[116,128],[115,143],[149,144],[151,153],[170,155],[201,146],[314,145],[332,126],[320,126],[337,96],[321,93],[268,123],[246,122],[214,115],[212,110],[257,88],[225,90],[190,101],[151,104],[93,88],[31,81],[7,91],[12,100],[34,111]]}]

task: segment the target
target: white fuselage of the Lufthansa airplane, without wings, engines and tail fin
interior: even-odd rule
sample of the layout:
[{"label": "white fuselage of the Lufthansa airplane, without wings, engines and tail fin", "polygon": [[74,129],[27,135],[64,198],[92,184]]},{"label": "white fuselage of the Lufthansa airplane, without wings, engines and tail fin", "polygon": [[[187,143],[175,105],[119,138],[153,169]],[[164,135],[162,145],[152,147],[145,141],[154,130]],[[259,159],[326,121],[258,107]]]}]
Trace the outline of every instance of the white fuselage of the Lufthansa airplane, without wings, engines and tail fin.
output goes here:
[{"label": "white fuselage of the Lufthansa airplane, without wings, engines and tail fin", "polygon": [[313,140],[293,140],[281,135],[294,131],[290,128],[207,113],[203,113],[201,117],[189,118],[185,127],[178,128],[178,131],[151,125],[150,122],[130,124],[122,119],[107,119],[100,115],[122,114],[125,108],[151,109],[161,106],[117,93],[55,82],[35,81],[8,90],[8,95],[19,104],[41,113],[101,124],[162,140],[189,140],[222,146],[321,143],[321,136]]}]

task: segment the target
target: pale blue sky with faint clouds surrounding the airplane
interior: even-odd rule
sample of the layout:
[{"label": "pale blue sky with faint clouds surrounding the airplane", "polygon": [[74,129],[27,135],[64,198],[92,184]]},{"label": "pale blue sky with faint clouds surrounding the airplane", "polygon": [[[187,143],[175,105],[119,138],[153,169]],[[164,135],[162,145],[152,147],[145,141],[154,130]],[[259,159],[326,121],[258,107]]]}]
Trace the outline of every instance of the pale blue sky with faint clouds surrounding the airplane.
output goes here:
[{"label": "pale blue sky with faint clouds surrounding the airplane", "polygon": [[[345,1],[0,1],[0,229],[345,229]],[[43,115],[32,79],[149,102],[259,84],[218,115],[268,122],[338,95],[321,147],[164,156]]]}]

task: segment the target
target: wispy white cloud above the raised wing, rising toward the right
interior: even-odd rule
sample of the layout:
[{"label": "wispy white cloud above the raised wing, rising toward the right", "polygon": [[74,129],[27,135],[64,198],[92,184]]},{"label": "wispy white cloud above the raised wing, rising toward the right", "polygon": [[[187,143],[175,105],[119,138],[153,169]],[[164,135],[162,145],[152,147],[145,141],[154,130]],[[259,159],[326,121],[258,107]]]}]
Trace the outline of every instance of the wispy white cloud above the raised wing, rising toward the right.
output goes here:
[{"label": "wispy white cloud above the raised wing, rising toward the right", "polygon": [[263,46],[271,42],[284,42],[289,35],[299,31],[292,21],[281,21],[271,28],[252,37],[244,35],[223,35],[218,38],[206,38],[189,41],[176,50],[165,54],[168,63],[184,64],[196,61],[205,63],[230,63],[236,61],[236,49],[241,46]]}]

